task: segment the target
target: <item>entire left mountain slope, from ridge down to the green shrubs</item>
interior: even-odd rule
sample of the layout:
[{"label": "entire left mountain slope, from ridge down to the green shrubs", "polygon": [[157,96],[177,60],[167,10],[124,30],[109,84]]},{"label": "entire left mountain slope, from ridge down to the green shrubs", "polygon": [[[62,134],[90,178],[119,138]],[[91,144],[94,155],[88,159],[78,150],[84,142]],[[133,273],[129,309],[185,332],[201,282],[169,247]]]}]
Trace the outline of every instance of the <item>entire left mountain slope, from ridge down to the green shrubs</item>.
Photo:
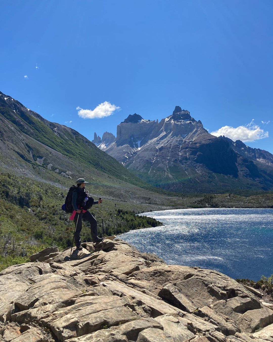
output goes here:
[{"label": "entire left mountain slope, from ridge down to the green shrubs", "polygon": [[[126,183],[157,190],[128,171],[86,137],[44,119],[0,92],[0,168],[54,184],[84,176],[95,184]],[[131,184],[131,185],[130,185]],[[112,184],[111,184],[112,186]],[[114,186],[117,186],[116,184]],[[124,195],[125,196],[125,195]]]}]

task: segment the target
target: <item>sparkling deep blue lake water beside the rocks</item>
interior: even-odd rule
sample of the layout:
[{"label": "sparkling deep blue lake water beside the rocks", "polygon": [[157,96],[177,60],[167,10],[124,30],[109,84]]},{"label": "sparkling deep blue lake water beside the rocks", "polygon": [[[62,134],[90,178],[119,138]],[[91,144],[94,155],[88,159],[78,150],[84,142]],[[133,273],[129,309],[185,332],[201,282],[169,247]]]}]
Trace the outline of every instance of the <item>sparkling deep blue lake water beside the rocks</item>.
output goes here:
[{"label": "sparkling deep blue lake water beside the rocks", "polygon": [[122,234],[168,264],[216,269],[232,278],[273,274],[273,209],[175,209],[142,213],[164,226]]}]

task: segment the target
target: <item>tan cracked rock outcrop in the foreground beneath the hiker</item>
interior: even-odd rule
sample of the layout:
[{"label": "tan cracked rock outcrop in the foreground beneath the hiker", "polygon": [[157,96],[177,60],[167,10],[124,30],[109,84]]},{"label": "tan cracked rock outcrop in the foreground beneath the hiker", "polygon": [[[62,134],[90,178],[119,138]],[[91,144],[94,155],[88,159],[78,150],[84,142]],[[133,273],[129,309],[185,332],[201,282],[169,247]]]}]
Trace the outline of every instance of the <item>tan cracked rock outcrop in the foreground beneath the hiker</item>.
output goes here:
[{"label": "tan cracked rock outcrop in the foreground beneath the hiker", "polygon": [[1,341],[273,339],[273,311],[224,274],[167,265],[122,240],[83,247],[0,273]]}]

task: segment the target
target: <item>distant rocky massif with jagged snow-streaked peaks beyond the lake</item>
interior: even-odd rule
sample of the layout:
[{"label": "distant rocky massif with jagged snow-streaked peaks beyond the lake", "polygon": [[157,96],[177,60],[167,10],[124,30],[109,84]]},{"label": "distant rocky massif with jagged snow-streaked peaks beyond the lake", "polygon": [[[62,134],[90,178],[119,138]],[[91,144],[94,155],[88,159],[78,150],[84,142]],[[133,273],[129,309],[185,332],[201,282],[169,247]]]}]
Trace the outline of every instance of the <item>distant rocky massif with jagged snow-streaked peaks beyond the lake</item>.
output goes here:
[{"label": "distant rocky massif with jagged snow-streaked peaks beyond the lake", "polygon": [[273,189],[271,153],[211,135],[179,106],[160,122],[129,115],[117,126],[116,137],[105,132],[101,139],[95,133],[92,142],[135,175],[166,190]]}]

